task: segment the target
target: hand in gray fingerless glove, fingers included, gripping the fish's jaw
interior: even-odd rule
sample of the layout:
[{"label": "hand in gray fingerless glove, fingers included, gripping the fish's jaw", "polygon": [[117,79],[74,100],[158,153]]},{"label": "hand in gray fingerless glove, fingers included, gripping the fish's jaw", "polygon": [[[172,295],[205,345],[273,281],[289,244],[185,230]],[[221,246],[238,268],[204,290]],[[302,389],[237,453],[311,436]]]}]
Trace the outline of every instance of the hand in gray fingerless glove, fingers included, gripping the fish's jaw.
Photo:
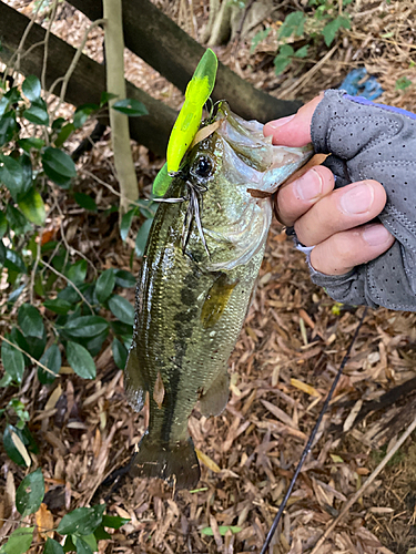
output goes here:
[{"label": "hand in gray fingerless glove, fingers included, gripping the fish's jaw", "polygon": [[281,220],[316,245],[312,280],[341,302],[416,311],[416,114],[328,90],[265,134],[331,154],[277,195]]}]

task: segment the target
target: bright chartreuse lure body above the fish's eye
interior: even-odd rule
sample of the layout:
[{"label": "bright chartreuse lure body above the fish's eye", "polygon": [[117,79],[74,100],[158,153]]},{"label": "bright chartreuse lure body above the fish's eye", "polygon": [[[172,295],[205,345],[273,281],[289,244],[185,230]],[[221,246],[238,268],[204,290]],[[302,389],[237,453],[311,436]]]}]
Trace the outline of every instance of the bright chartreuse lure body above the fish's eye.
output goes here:
[{"label": "bright chartreuse lure body above the fish's eye", "polygon": [[202,109],[215,84],[219,61],[207,49],[187,83],[185,103],[180,111],[168,144],[168,173],[176,172],[195,136],[202,117]]}]

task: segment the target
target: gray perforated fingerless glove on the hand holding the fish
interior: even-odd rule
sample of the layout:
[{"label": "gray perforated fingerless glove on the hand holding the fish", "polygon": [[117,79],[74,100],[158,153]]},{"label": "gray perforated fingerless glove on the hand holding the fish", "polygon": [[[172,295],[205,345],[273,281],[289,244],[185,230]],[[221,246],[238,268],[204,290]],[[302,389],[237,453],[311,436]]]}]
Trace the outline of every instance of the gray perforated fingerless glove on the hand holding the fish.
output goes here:
[{"label": "gray perforated fingerless glove on the hand holding the fish", "polygon": [[373,178],[387,193],[378,216],[395,236],[378,258],[342,276],[315,271],[312,280],[344,304],[416,311],[416,115],[329,90],[315,110],[312,142],[332,153],[325,165],[336,188]]}]

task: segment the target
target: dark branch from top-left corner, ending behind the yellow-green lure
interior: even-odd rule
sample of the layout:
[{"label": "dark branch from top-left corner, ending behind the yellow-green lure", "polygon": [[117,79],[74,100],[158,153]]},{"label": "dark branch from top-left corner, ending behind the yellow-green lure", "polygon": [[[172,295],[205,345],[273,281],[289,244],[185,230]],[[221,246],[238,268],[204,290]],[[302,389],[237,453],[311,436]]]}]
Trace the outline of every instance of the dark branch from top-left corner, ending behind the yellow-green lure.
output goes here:
[{"label": "dark branch from top-left corner, ending behind the yellow-green lure", "polygon": [[[10,60],[18,48],[20,39],[29,23],[29,19],[7,6],[0,0],[0,40],[2,50],[0,60],[4,63]],[[44,39],[45,30],[34,24],[28,35],[24,50]],[[49,40],[49,58],[47,71],[47,86],[50,86],[57,78],[64,75],[73,57],[75,49],[59,39],[54,34]],[[23,74],[35,74],[40,76],[43,60],[43,47],[34,48],[21,61]],[[60,88],[57,88],[59,94]],[[101,93],[105,91],[105,69],[91,58],[82,54],[80,61],[70,79],[65,101],[81,105],[88,102],[100,102]],[[126,81],[128,98],[134,98],[143,102],[148,107],[149,115],[130,119],[131,136],[140,144],[144,144],[155,154],[165,155],[166,145],[176,113],[171,107],[153,99],[142,90]]]}]

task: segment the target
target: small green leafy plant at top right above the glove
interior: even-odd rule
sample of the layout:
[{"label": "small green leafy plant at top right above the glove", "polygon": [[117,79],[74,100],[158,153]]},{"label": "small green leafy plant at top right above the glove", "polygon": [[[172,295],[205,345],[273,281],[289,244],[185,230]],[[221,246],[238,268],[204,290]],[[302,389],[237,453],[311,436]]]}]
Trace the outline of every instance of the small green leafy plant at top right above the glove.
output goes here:
[{"label": "small green leafy plant at top right above the glove", "polygon": [[[349,4],[352,0],[343,0],[342,6]],[[286,16],[277,31],[280,42],[274,66],[276,75],[282,74],[296,59],[308,55],[311,47],[318,47],[322,41],[331,47],[339,29],[349,29],[349,14],[339,11],[337,0],[308,0],[305,11],[297,10]],[[266,39],[271,28],[260,31],[252,41],[252,52],[257,44]],[[298,48],[291,43],[303,42]]]}]

